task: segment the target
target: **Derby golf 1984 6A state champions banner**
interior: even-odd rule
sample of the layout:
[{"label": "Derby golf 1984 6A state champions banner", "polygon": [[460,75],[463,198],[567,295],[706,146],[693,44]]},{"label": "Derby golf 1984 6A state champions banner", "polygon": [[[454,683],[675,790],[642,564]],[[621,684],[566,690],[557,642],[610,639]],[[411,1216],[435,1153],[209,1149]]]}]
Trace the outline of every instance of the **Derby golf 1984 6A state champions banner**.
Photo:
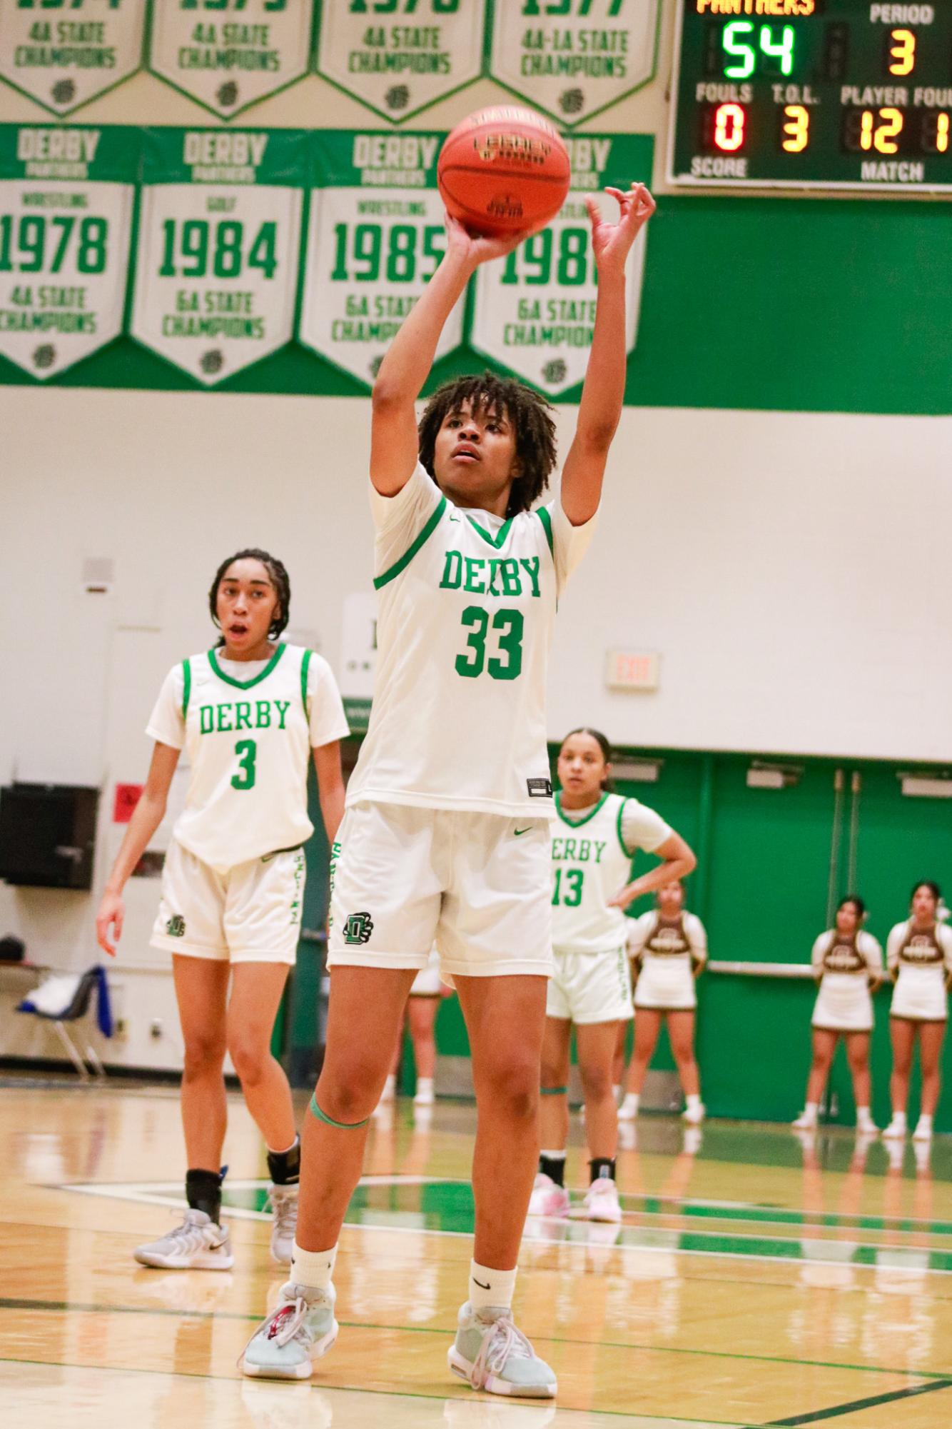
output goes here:
[{"label": "Derby golf 1984 6A state champions banner", "polygon": [[133,336],[206,386],[291,340],[301,130],[143,131]]}]

